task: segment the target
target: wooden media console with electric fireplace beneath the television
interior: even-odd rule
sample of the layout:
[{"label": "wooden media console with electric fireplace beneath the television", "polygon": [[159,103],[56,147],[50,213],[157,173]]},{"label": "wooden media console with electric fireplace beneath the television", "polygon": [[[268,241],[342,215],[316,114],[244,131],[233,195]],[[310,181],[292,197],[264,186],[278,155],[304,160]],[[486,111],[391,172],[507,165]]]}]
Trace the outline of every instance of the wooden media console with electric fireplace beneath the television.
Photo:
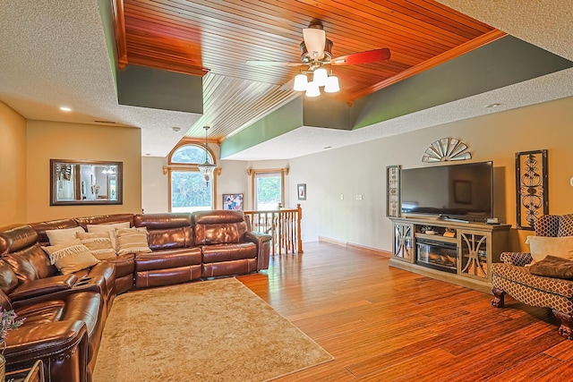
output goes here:
[{"label": "wooden media console with electric fireplace beneath the television", "polygon": [[491,265],[509,249],[511,225],[423,217],[390,217],[389,265],[492,293]]}]

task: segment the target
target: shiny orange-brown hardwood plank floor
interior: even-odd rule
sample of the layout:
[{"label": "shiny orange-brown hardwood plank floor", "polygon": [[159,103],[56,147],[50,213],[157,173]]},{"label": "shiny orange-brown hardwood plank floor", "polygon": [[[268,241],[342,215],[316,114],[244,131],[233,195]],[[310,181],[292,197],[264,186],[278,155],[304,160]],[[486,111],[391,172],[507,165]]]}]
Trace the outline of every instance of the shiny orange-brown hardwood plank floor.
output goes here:
[{"label": "shiny orange-brown hardwood plank floor", "polygon": [[573,341],[551,310],[389,267],[389,259],[329,243],[275,255],[237,277],[334,361],[280,381],[565,381]]}]

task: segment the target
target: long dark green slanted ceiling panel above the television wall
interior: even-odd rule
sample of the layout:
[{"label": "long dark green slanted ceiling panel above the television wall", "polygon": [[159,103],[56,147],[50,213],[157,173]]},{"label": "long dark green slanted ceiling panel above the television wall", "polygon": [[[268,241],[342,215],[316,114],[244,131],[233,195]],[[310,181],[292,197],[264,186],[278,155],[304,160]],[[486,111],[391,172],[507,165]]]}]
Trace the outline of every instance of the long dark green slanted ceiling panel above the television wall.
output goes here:
[{"label": "long dark green slanted ceiling panel above the television wall", "polygon": [[356,101],[355,106],[363,110],[356,115],[353,129],[572,66],[569,60],[518,38],[500,38]]}]

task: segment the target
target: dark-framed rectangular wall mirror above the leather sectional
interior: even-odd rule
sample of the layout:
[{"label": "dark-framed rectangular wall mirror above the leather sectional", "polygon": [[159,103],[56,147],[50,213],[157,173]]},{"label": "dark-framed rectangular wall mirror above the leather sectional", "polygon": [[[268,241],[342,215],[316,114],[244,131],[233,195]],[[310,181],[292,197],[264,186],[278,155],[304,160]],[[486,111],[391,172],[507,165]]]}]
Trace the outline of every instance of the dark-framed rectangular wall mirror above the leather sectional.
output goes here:
[{"label": "dark-framed rectangular wall mirror above the leather sectional", "polygon": [[123,204],[123,162],[50,159],[50,206]]}]

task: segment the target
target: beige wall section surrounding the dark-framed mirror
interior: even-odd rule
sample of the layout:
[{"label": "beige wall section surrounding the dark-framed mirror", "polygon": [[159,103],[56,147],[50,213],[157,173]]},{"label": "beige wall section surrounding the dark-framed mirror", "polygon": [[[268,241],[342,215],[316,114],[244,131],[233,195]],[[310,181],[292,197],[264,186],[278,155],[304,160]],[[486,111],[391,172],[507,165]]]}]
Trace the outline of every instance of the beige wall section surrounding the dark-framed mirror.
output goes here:
[{"label": "beige wall section surrounding the dark-framed mirror", "polygon": [[[124,163],[124,204],[50,206],[50,159]],[[141,130],[80,123],[28,121],[27,221],[141,212]]]}]

